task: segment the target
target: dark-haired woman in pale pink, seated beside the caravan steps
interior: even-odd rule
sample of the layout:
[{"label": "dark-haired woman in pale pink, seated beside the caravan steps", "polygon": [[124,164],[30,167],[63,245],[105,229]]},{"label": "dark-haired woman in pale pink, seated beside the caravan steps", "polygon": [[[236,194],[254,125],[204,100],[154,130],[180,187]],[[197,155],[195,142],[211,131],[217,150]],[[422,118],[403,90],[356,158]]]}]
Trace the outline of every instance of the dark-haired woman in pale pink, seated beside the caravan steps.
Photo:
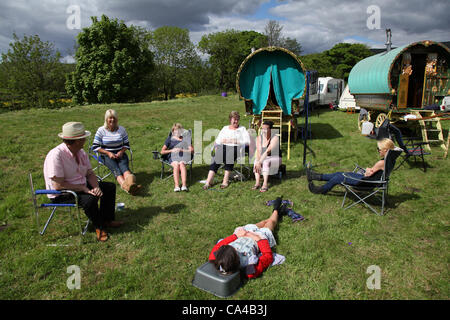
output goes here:
[{"label": "dark-haired woman in pale pink, seated beside the caravan steps", "polygon": [[281,165],[280,139],[277,135],[272,136],[272,128],[272,121],[264,121],[261,126],[261,134],[256,138],[256,155],[253,166],[256,181],[252,189],[259,189],[262,174],[263,185],[260,192],[269,190],[269,175],[276,174]]}]

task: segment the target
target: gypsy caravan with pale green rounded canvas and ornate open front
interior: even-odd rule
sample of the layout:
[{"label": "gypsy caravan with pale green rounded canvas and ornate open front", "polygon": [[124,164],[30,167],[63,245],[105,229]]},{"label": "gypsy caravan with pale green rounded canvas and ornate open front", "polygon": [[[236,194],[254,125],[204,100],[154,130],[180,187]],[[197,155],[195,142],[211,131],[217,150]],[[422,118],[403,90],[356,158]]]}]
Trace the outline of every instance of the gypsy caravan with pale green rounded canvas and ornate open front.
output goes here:
[{"label": "gypsy caravan with pale green rounded canvas and ornate open front", "polygon": [[[376,127],[386,118],[398,126],[414,126],[425,142],[437,142],[445,149],[442,114],[435,111],[450,94],[449,63],[449,49],[438,42],[388,48],[353,67],[348,78],[350,93],[368,111],[365,120],[373,120]],[[437,137],[430,138],[432,132]]]}]

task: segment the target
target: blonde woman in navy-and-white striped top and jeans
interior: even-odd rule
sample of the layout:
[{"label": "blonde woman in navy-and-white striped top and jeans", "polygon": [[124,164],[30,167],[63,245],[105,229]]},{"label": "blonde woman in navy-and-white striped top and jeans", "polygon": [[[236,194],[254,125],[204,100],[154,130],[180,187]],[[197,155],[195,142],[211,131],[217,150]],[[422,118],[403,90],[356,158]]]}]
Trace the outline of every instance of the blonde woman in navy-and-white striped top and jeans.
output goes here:
[{"label": "blonde woman in navy-and-white striped top and jeans", "polygon": [[105,124],[98,128],[92,150],[101,154],[104,164],[113,172],[120,187],[135,195],[141,186],[136,184],[136,176],[130,171],[125,153],[128,149],[128,134],[124,127],[118,125],[117,112],[107,110]]}]

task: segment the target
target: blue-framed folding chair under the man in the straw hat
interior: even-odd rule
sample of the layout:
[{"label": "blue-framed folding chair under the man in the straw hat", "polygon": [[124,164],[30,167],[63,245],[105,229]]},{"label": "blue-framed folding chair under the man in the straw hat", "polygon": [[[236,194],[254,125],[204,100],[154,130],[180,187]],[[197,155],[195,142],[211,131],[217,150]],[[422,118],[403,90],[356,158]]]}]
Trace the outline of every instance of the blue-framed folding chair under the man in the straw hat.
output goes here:
[{"label": "blue-framed folding chair under the man in the straw hat", "polygon": [[[71,190],[46,190],[46,189],[38,189],[35,190],[34,186],[33,186],[33,178],[31,176],[31,173],[29,175],[29,180],[30,180],[30,190],[31,190],[31,199],[33,201],[33,209],[34,209],[34,216],[36,219],[36,226],[38,228],[39,234],[42,236],[44,235],[45,231],[47,230],[47,227],[49,226],[51,220],[53,219],[55,212],[58,208],[68,208],[69,209],[69,213],[71,213],[71,209],[75,208],[76,210],[76,215],[77,215],[77,220],[75,221],[73,219],[73,216],[70,214],[72,221],[76,224],[76,228],[80,228],[81,230],[81,235],[84,236],[88,226],[89,226],[89,219],[86,222],[85,227],[81,227],[81,220],[80,220],[80,208],[78,206],[78,197],[77,194],[74,191]],[[74,196],[74,201],[73,203],[41,203],[38,204],[38,200],[37,200],[37,196],[39,195],[48,195],[48,194],[57,194],[57,195],[62,195],[62,194],[72,194]],[[52,210],[49,218],[47,219],[44,228],[41,230],[41,226],[39,223],[39,210],[42,208],[49,208]]]}]

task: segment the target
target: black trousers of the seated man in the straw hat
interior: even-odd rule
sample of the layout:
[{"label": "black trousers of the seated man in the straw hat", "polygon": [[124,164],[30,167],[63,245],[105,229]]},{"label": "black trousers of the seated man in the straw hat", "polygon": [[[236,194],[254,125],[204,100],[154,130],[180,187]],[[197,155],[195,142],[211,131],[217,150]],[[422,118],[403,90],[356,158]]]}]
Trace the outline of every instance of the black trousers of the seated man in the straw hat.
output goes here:
[{"label": "black trousers of the seated man in the straw hat", "polygon": [[[100,181],[98,183],[103,195],[99,198],[85,192],[77,192],[78,205],[83,208],[84,213],[92,221],[96,229],[104,229],[105,224],[115,219],[116,185],[111,182]],[[88,184],[88,188],[91,186]],[[64,194],[52,199],[53,203],[73,203],[71,194]]]}]

